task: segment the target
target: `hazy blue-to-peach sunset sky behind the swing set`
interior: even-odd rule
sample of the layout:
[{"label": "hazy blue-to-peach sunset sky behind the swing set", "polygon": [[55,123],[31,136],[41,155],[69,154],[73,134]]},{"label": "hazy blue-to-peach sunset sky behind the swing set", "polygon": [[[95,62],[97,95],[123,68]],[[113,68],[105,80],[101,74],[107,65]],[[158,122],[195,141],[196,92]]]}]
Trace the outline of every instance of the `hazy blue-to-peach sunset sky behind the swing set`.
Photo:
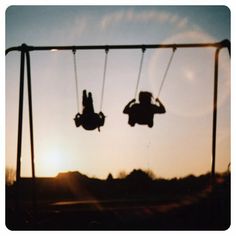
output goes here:
[{"label": "hazy blue-to-peach sunset sky behind the swing set", "polygon": [[[206,43],[230,39],[225,6],[11,6],[6,48],[22,43],[112,45]],[[31,52],[36,176],[80,171],[91,177],[151,169],[157,177],[200,175],[211,169],[215,49],[177,49],[160,100],[166,113],[154,127],[130,127],[124,106],[134,98],[141,50],[110,50],[101,132],[76,128],[76,87],[71,51]],[[139,91],[156,97],[171,49],[146,50]],[[77,51],[78,87],[91,91],[99,112],[104,51]],[[15,168],[19,52],[6,56],[6,166]],[[220,53],[216,171],[230,163],[230,58]],[[25,88],[26,91],[26,88]],[[22,176],[30,176],[25,93]],[[81,104],[80,104],[81,109]]]}]

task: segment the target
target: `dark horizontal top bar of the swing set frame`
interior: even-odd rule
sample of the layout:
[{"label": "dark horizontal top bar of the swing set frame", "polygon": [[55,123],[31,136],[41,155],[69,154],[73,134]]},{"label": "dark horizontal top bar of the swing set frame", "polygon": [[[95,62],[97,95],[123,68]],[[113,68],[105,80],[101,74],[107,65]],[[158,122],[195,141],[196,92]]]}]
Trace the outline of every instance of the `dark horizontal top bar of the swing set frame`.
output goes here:
[{"label": "dark horizontal top bar of the swing set frame", "polygon": [[133,44],[133,45],[84,45],[84,46],[28,46],[22,44],[18,47],[6,49],[6,55],[12,51],[52,51],[52,50],[110,50],[110,49],[151,49],[151,48],[196,48],[196,47],[227,47],[230,53],[231,43],[225,39],[216,43],[182,43],[182,44]]}]

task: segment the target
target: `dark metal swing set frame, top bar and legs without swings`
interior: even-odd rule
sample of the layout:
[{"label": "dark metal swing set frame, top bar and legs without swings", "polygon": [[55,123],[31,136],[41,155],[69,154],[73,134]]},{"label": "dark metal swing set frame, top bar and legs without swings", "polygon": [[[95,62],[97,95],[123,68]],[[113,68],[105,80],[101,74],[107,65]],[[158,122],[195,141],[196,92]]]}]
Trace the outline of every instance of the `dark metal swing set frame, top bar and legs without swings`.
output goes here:
[{"label": "dark metal swing set frame, top bar and legs without swings", "polygon": [[[192,44],[139,44],[139,45],[90,45],[90,46],[21,46],[11,47],[6,49],[7,55],[13,51],[19,51],[20,56],[20,80],[19,80],[19,111],[18,111],[18,136],[17,136],[17,163],[16,163],[16,208],[19,206],[19,182],[21,179],[21,148],[22,148],[22,126],[23,126],[23,101],[24,101],[24,77],[25,77],[25,61],[28,87],[28,107],[29,107],[29,128],[30,128],[30,150],[31,150],[31,172],[33,183],[33,206],[36,208],[35,194],[35,164],[34,164],[34,132],[33,132],[33,109],[32,109],[32,90],[31,90],[31,66],[30,52],[31,51],[61,51],[71,50],[73,53],[76,50],[119,50],[119,49],[141,49],[143,52],[146,49],[164,49],[170,48],[173,51],[177,48],[215,48],[214,56],[214,91],[213,91],[213,120],[212,120],[212,162],[211,162],[211,183],[215,182],[215,156],[216,156],[216,128],[217,128],[217,95],[218,95],[218,65],[219,53],[222,48],[227,48],[231,55],[231,43],[225,39],[216,43],[192,43]],[[104,88],[103,88],[104,89]],[[136,89],[137,90],[137,89]],[[136,91],[137,92],[137,91]],[[78,95],[77,95],[78,96]]]}]

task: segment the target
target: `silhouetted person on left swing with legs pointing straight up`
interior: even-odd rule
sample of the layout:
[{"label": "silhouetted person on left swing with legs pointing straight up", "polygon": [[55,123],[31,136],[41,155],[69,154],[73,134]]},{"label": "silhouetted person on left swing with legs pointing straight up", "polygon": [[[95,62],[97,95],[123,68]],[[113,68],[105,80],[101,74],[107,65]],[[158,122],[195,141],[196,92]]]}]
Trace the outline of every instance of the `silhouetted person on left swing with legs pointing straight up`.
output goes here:
[{"label": "silhouetted person on left swing with legs pointing straight up", "polygon": [[105,115],[102,112],[99,112],[98,114],[94,112],[91,92],[89,92],[87,96],[86,90],[83,90],[82,104],[82,114],[77,113],[74,118],[76,127],[81,125],[86,130],[94,130],[98,128],[98,131],[100,131],[100,127],[103,126],[105,122]]}]

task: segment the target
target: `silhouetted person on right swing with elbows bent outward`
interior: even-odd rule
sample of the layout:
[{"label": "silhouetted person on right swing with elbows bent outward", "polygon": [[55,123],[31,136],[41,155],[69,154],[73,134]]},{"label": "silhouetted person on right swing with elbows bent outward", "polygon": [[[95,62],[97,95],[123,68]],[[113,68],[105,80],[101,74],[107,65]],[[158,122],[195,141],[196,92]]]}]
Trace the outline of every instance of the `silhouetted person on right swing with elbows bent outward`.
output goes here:
[{"label": "silhouetted person on right swing with elbows bent outward", "polygon": [[150,92],[141,91],[139,93],[139,103],[135,103],[135,99],[130,101],[124,108],[123,113],[129,115],[129,125],[134,126],[136,123],[140,125],[148,125],[153,127],[154,114],[165,113],[166,109],[161,101],[156,98],[158,105],[151,103],[152,94]]}]

